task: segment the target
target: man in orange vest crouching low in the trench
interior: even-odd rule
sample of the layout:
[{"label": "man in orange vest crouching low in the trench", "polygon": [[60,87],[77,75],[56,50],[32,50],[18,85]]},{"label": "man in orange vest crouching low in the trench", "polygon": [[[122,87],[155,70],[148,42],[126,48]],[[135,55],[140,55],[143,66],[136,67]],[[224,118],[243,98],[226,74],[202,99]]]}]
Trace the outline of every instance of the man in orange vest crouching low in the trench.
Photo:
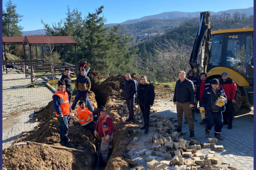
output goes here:
[{"label": "man in orange vest crouching low in the trench", "polygon": [[95,116],[97,111],[90,112],[90,110],[85,107],[85,101],[80,101],[76,113],[76,118],[79,119],[80,124],[94,133],[94,122],[96,123],[98,120],[98,117]]}]

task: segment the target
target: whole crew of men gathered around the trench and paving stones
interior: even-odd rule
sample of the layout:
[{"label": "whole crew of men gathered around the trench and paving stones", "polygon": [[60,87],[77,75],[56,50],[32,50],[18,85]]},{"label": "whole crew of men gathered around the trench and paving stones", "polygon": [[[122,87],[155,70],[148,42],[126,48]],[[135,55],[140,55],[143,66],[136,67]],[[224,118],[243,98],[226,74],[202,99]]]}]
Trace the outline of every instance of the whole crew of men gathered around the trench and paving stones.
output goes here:
[{"label": "whole crew of men gathered around the trench and paving stones", "polygon": [[[83,100],[79,102],[76,118],[78,118],[80,125],[90,130],[96,138],[101,138],[102,159],[107,163],[109,159],[109,142],[113,140],[114,126],[104,106],[94,111],[88,110],[87,96],[91,88],[91,83],[89,77],[85,75],[85,69],[83,69],[85,66],[87,66],[86,62],[79,68],[81,74],[76,77],[75,89],[77,94],[72,105],[70,105],[73,94],[70,69],[65,69],[63,76],[58,82],[58,90],[52,96],[54,111],[59,122],[61,139],[59,143],[66,147],[72,147],[70,140],[68,140],[68,120],[70,120],[69,116],[75,117],[72,110],[75,110],[78,100],[83,97]],[[145,130],[144,133],[149,133],[150,107],[153,106],[155,99],[154,87],[147,81],[147,76],[140,77],[140,84],[131,78],[130,73],[127,73],[125,78],[126,80],[123,83],[123,97],[129,111],[129,118],[126,122],[134,121],[133,106],[137,104],[140,106],[144,121],[144,125],[140,130]],[[218,99],[221,96],[222,100],[216,105],[216,101],[219,101]],[[223,140],[221,136],[223,125],[228,124],[228,129],[232,128],[233,103],[236,102],[235,96],[236,84],[228,79],[227,72],[222,72],[221,81],[218,79],[212,79],[210,81],[207,79],[207,75],[202,72],[198,81],[193,69],[190,69],[187,74],[185,71],[180,71],[173,97],[173,103],[176,105],[178,117],[177,132],[181,132],[184,113],[184,123],[188,123],[190,130],[189,137],[192,139],[195,137],[194,122],[197,122],[195,120],[195,113],[197,112],[197,104],[199,103],[200,111],[205,111],[205,119],[200,122],[200,124],[206,124],[205,136],[209,137],[210,130],[215,125],[215,137]]]}]

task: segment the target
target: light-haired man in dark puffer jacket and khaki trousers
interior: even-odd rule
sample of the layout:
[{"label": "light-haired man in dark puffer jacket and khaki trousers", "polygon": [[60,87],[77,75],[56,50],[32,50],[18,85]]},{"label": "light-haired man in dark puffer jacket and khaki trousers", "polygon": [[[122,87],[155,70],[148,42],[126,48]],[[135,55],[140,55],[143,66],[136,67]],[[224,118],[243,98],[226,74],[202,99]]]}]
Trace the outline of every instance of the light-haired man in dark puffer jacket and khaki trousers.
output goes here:
[{"label": "light-haired man in dark puffer jacket and khaki trousers", "polygon": [[178,117],[178,128],[177,132],[181,132],[183,111],[188,119],[188,127],[190,130],[190,139],[195,137],[194,134],[194,123],[192,119],[192,111],[195,104],[195,89],[193,82],[186,79],[186,72],[180,71],[179,78],[176,82],[174,89],[173,104],[176,105],[177,117]]}]

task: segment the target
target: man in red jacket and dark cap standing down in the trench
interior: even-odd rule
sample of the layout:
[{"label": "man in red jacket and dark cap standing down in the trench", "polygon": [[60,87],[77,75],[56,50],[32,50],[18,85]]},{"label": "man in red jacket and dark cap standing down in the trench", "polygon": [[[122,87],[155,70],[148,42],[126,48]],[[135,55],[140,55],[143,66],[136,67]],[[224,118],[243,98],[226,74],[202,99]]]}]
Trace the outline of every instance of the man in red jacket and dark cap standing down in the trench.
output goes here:
[{"label": "man in red jacket and dark cap standing down in the trench", "polygon": [[113,140],[114,125],[111,117],[107,115],[107,110],[104,106],[101,106],[100,114],[101,116],[99,117],[98,123],[95,127],[94,135],[96,138],[99,135],[101,136],[102,160],[107,164],[107,161],[109,161],[109,142]]}]

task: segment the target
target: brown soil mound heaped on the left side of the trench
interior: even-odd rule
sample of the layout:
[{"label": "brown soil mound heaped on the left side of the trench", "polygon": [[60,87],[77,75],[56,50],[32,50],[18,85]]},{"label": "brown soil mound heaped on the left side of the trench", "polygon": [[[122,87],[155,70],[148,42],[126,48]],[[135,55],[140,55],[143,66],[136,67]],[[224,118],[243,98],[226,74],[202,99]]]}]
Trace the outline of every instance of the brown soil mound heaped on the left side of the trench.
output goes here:
[{"label": "brown soil mound heaped on the left side of the trench", "polygon": [[[93,106],[97,107],[95,94],[89,93]],[[71,101],[75,96],[72,96]],[[78,105],[76,106],[76,110]],[[49,145],[59,144],[59,123],[55,116],[52,101],[37,111],[35,120],[41,123],[30,132],[24,132],[16,142],[32,141]],[[75,152],[52,147],[27,144],[11,146],[3,150],[3,167],[8,169],[93,169],[95,162],[95,139],[93,134],[83,128],[78,119],[69,123],[68,138],[73,148],[85,152]]]}]

